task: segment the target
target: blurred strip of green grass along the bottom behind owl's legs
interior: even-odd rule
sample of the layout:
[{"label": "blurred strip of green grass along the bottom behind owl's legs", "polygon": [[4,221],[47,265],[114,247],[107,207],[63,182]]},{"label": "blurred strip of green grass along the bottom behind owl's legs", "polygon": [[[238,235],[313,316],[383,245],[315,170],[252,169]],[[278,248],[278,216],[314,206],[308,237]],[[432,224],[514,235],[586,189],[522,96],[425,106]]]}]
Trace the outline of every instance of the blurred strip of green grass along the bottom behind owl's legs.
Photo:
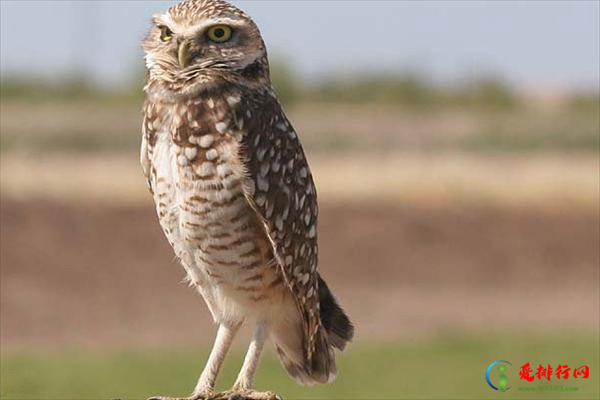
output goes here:
[{"label": "blurred strip of green grass along the bottom behind owl's legs", "polygon": [[[1,358],[3,399],[139,399],[155,394],[185,395],[193,388],[206,350],[68,352],[54,355],[6,353]],[[507,360],[506,393],[485,381],[487,366]],[[242,354],[228,358],[219,379],[226,389],[235,379]],[[548,385],[537,378],[519,379],[520,366],[530,363],[589,366],[588,379],[550,384],[578,387],[578,392],[522,392],[519,387]],[[595,335],[464,337],[397,344],[356,344],[339,357],[340,376],[329,386],[304,388],[287,377],[269,353],[259,369],[257,386],[285,399],[399,399],[399,398],[578,398],[597,399],[599,393],[598,337]],[[571,371],[572,372],[572,371]],[[491,374],[497,385],[498,373]]]}]

